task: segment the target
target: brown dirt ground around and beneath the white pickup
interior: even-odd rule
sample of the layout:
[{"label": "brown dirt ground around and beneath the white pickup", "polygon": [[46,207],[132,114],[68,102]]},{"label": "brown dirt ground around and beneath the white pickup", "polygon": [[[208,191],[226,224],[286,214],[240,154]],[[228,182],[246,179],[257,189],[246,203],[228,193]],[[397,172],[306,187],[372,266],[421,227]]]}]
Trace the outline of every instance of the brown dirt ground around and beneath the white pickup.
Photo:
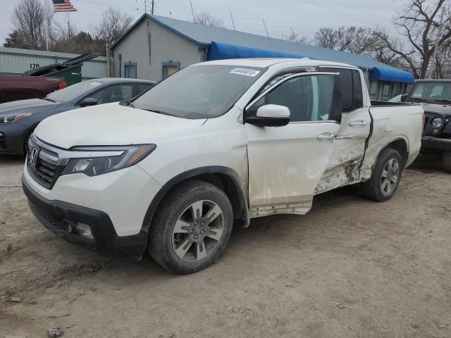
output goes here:
[{"label": "brown dirt ground around and beneath the white pickup", "polygon": [[435,164],[414,163],[382,204],[352,187],[236,227],[217,264],[176,276],[51,234],[23,160],[0,156],[0,338],[451,337],[451,175]]}]

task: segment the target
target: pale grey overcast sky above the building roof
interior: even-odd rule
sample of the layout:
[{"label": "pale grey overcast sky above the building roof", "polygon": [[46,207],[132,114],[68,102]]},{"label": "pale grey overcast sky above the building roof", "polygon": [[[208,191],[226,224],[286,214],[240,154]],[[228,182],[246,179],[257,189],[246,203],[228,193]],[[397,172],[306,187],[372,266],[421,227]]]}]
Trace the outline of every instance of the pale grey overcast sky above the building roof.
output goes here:
[{"label": "pale grey overcast sky above the building roof", "polygon": [[[8,32],[13,30],[11,16],[20,0],[0,0],[0,44]],[[41,0],[49,1],[49,0]],[[270,37],[287,37],[290,26],[299,36],[314,37],[321,27],[340,25],[374,27],[380,25],[393,31],[390,20],[402,10],[406,0],[191,0],[194,13],[209,11],[221,18],[227,28],[233,29],[232,12],[236,30],[266,35],[265,21]],[[77,12],[56,13],[57,20],[70,19],[80,30],[89,30],[89,25],[101,19],[108,6],[125,11],[133,18],[144,13],[144,2],[149,11],[151,0],[71,0]],[[8,4],[8,6],[6,6]],[[156,15],[182,20],[192,20],[189,0],[155,0]]]}]

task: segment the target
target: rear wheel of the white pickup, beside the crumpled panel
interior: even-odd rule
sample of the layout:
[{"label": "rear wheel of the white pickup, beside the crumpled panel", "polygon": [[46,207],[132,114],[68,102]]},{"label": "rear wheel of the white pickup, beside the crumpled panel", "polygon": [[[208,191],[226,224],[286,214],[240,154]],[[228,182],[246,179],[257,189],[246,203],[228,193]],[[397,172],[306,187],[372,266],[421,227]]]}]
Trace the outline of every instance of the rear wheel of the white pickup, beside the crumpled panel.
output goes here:
[{"label": "rear wheel of the white pickup, beside the crumpled panel", "polygon": [[383,149],[371,178],[362,184],[364,196],[378,202],[390,199],[400,184],[402,168],[400,153],[395,149]]}]

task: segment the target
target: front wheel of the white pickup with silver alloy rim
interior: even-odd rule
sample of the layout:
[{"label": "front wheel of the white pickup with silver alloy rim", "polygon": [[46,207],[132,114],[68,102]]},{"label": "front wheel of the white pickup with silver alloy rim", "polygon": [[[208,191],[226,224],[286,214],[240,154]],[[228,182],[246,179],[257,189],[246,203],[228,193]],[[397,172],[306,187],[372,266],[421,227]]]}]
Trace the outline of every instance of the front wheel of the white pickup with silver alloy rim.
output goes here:
[{"label": "front wheel of the white pickup with silver alloy rim", "polygon": [[171,273],[194,273],[221,256],[232,227],[233,209],[226,193],[216,185],[190,180],[161,200],[147,251]]}]

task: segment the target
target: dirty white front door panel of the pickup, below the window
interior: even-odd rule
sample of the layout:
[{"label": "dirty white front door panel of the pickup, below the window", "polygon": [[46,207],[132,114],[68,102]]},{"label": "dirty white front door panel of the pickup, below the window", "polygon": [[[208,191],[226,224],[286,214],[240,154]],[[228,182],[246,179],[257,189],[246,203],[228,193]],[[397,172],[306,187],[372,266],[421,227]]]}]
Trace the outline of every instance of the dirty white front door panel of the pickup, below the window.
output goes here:
[{"label": "dirty white front door panel of the pickup, below the window", "polygon": [[254,217],[258,211],[259,215],[261,211],[309,211],[314,189],[333,149],[333,142],[317,137],[326,132],[336,134],[338,128],[338,123],[331,121],[290,123],[284,127],[246,125],[249,204]]}]

